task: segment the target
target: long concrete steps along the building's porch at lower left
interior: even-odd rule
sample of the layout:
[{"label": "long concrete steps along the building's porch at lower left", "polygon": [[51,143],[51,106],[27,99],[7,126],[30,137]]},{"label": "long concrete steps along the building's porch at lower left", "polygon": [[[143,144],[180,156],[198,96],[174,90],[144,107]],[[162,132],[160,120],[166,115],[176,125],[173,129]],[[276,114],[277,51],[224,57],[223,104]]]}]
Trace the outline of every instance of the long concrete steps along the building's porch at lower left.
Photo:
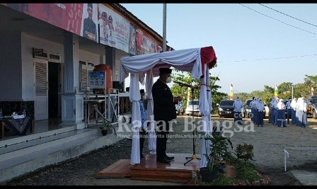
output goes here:
[{"label": "long concrete steps along the building's porch at lower left", "polygon": [[117,125],[103,136],[100,129],[62,127],[0,142],[0,185],[46,166],[73,159],[132,136]]}]

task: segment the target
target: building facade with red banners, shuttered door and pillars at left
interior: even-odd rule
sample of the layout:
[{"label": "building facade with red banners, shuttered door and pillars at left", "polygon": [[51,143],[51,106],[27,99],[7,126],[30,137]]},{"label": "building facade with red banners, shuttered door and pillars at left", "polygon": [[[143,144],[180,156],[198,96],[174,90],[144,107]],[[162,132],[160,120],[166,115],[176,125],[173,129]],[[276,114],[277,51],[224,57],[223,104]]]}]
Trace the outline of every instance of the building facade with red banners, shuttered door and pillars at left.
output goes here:
[{"label": "building facade with red banners, shuttered door and pillars at left", "polygon": [[3,115],[82,129],[88,71],[108,64],[119,81],[121,57],[162,51],[161,35],[120,4],[0,4],[0,15]]}]

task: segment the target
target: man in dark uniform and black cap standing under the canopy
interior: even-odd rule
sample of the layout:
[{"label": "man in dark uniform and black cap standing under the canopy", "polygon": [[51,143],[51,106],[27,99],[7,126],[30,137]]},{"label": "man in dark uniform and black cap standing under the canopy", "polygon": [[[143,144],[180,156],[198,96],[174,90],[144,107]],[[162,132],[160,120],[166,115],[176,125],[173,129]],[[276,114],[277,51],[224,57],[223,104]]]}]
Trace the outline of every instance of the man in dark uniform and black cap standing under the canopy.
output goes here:
[{"label": "man in dark uniform and black cap standing under the canopy", "polygon": [[173,156],[166,155],[166,135],[170,130],[171,120],[176,118],[174,101],[180,99],[173,98],[173,94],[166,83],[171,82],[172,69],[160,68],[160,77],[152,86],[152,96],[154,101],[154,120],[156,127],[156,161],[168,164],[174,159]]}]

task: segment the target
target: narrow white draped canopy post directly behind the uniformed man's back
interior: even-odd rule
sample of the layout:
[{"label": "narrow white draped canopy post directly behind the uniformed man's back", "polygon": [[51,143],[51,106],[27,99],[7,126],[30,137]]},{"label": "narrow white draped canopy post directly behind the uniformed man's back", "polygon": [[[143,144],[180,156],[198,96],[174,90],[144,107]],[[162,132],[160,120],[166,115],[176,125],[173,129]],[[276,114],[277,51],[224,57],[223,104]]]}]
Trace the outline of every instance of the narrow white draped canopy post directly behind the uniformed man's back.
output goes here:
[{"label": "narrow white draped canopy post directly behind the uniformed man's back", "polygon": [[152,86],[153,86],[153,71],[150,69],[146,72],[146,93],[147,93],[147,112],[146,120],[149,120],[149,151],[150,154],[156,154],[156,133],[155,133],[155,122],[153,115],[153,96],[152,96]]}]

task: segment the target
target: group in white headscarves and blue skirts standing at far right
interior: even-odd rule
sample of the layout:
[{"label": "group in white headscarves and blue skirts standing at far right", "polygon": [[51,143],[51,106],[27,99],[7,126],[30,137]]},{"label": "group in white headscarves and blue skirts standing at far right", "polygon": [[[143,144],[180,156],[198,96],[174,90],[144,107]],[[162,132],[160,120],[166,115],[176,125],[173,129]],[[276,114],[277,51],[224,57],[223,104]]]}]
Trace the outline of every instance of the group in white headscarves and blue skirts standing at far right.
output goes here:
[{"label": "group in white headscarves and blue skirts standing at far right", "polygon": [[[287,115],[285,115],[285,110],[287,110]],[[292,120],[292,125],[306,127],[308,125],[306,111],[307,103],[304,97],[298,99],[289,97],[289,101],[287,101],[286,105],[282,98],[272,97],[269,122],[273,125],[287,127],[289,120]],[[285,120],[287,120],[287,122]]]}]

